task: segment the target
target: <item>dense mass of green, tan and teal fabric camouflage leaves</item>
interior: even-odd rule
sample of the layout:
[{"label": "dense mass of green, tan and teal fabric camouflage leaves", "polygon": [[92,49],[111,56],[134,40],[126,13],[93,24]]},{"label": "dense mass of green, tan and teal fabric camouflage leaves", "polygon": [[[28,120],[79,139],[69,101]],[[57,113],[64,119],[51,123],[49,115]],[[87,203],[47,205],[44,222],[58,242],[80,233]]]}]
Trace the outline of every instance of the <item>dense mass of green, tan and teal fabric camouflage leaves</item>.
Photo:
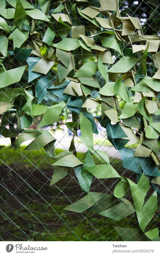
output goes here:
[{"label": "dense mass of green, tan and teal fabric camouflage leaves", "polygon": [[[137,231],[115,228],[123,239],[127,232],[133,240],[158,239],[158,228],[146,229],[160,185],[157,7],[156,1],[117,0],[0,3],[1,134],[15,150],[32,140],[25,150],[43,148],[55,160],[50,185],[74,169],[86,195],[66,210],[82,213],[98,206],[113,220],[135,213]],[[62,120],[73,139],[70,150],[55,156],[56,138],[44,128]],[[94,149],[98,123],[137,183],[120,176],[106,152]],[[74,146],[78,130],[84,163]],[[119,179],[114,195],[89,191],[93,177]]]}]

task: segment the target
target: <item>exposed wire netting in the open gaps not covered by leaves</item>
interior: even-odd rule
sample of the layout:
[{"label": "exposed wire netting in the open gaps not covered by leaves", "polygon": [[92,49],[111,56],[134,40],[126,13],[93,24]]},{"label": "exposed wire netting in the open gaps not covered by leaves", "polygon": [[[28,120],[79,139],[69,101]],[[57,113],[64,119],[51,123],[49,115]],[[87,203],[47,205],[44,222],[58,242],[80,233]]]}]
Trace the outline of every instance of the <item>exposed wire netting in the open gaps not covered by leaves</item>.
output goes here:
[{"label": "exposed wire netting in the open gaps not covered by leaves", "polygon": [[[96,1],[93,1],[93,6],[94,2]],[[156,2],[155,5],[154,2]],[[128,13],[132,17],[138,17],[144,35],[159,35],[159,6],[157,2],[119,1],[119,10],[123,16]],[[152,19],[149,18],[151,13]],[[7,57],[6,61],[6,65],[12,65],[10,57]],[[148,67],[153,73],[152,62],[148,63]],[[27,81],[24,83],[27,84]],[[21,88],[22,84],[18,83],[18,86]],[[0,92],[5,94],[3,90]],[[46,106],[50,106],[52,102],[59,102],[59,98],[55,96],[54,99],[51,99],[48,93],[44,102]],[[94,116],[98,115],[101,110],[99,108],[89,109],[89,112]],[[68,112],[68,115],[72,121],[71,112]],[[7,115],[5,119],[8,120],[8,125],[14,126],[14,122],[9,121]],[[34,118],[31,128],[38,128],[38,124],[39,120]],[[118,150],[110,145],[106,130],[101,128],[98,122],[96,125],[99,134],[94,135],[95,149],[106,151],[110,157],[110,164],[121,175],[125,174],[125,177],[131,177],[132,180],[136,181],[136,174],[123,168]],[[75,148],[70,148],[73,134],[71,129],[65,125],[64,116],[61,116],[56,123],[45,127],[45,129],[54,132],[57,139],[56,155],[62,150],[70,149],[77,152],[81,161],[84,160],[87,149],[75,136]],[[54,170],[51,165],[53,159],[44,150],[27,151],[23,150],[23,146],[15,150],[11,144],[11,139],[3,136],[1,136],[0,142],[0,239],[2,241],[121,241],[121,237],[113,226],[136,227],[135,214],[125,217],[123,220],[115,221],[92,210],[84,213],[64,210],[66,206],[85,195],[85,192],[80,188],[75,172],[70,170],[65,178],[50,186]],[[95,162],[98,163],[98,161],[95,158]],[[117,182],[118,179],[93,178],[90,191],[113,194]],[[159,216],[156,212],[149,228],[154,228],[158,220]]]}]

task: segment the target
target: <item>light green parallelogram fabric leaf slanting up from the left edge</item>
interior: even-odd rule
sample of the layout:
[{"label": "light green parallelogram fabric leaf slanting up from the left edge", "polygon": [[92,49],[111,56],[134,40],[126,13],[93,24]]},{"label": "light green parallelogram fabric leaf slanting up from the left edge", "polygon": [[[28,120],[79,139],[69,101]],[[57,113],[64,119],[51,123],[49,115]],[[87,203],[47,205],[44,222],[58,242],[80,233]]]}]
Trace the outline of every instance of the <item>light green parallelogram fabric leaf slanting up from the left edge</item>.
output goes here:
[{"label": "light green parallelogram fabric leaf slanting up from the left edge", "polygon": [[18,83],[25,71],[26,66],[6,70],[0,74],[0,88]]}]

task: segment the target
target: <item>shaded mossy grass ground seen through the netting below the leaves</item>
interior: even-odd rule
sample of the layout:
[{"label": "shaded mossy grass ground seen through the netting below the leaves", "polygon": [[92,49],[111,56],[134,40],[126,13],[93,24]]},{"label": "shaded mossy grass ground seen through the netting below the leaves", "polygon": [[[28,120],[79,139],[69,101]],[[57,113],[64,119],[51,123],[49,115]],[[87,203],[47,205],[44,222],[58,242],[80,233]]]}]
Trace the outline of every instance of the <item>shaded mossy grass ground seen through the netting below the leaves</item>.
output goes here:
[{"label": "shaded mossy grass ground seen through the netting below the leaves", "polygon": [[[62,150],[56,150],[56,154]],[[137,228],[136,218],[129,216],[113,221],[104,216],[86,211],[83,214],[64,210],[65,206],[85,195],[71,170],[68,176],[49,186],[53,174],[54,160],[43,150],[26,151],[11,147],[0,149],[1,156],[1,211],[7,216],[0,218],[0,236],[5,241],[121,241],[114,226]],[[77,157],[84,161],[83,153]],[[112,160],[119,174],[124,171],[121,160]],[[97,160],[95,163],[99,163]],[[14,179],[8,179],[9,166]],[[7,171],[7,172],[6,172]],[[136,176],[133,176],[136,179]],[[98,184],[92,182],[91,187]],[[105,186],[97,186],[96,192],[113,193],[115,179],[107,179]],[[9,219],[17,226],[9,223]],[[152,226],[156,219],[153,220]]]}]

